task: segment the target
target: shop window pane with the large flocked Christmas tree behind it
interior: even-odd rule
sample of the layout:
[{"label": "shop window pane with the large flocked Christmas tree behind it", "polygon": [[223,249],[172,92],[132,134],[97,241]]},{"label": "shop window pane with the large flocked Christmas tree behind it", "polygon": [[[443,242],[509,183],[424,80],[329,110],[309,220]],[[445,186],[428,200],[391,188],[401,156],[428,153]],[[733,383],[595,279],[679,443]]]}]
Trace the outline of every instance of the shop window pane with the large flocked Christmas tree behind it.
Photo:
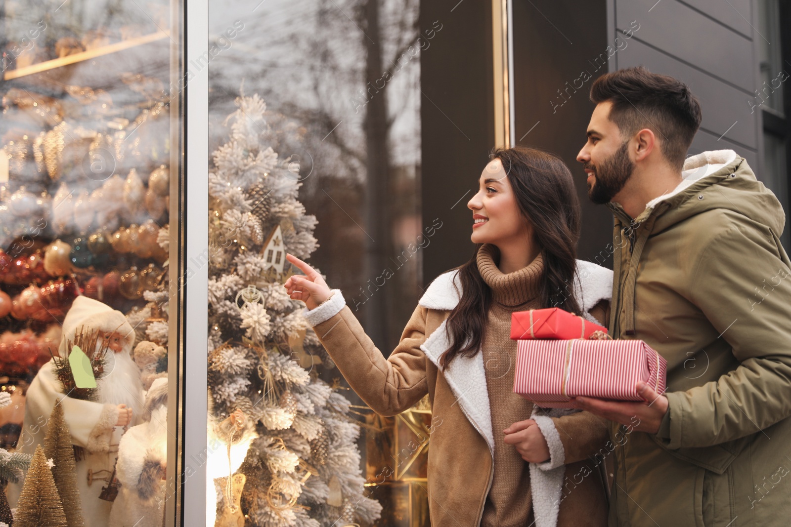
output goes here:
[{"label": "shop window pane with the large flocked Christmas tree behind it", "polygon": [[206,525],[427,525],[427,436],[388,452],[430,411],[375,416],[283,287],[305,260],[385,355],[418,303],[418,7],[209,2]]}]

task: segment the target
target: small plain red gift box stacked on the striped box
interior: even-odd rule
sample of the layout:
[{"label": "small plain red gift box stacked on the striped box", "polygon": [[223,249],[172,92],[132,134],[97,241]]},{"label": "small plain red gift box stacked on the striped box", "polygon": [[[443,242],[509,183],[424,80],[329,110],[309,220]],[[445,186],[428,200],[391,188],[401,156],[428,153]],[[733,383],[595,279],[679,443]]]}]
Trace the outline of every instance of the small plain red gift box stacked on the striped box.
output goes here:
[{"label": "small plain red gift box stacked on the striped box", "polygon": [[607,328],[563,311],[559,307],[517,311],[511,314],[511,338],[514,341],[536,338],[562,340],[588,338],[595,331],[607,333]]}]

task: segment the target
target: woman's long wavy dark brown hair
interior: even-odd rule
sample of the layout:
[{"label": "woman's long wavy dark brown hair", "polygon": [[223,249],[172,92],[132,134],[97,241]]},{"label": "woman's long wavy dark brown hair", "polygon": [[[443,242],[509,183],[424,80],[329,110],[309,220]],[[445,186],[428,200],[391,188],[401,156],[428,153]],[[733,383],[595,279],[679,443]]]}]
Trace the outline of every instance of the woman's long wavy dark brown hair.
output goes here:
[{"label": "woman's long wavy dark brown hair", "polygon": [[[581,312],[573,296],[580,237],[580,201],[566,164],[558,157],[525,146],[494,150],[511,183],[517,205],[532,225],[533,241],[541,247],[544,270],[539,288],[541,307],[560,307]],[[475,356],[486,333],[486,316],[492,303],[491,289],[478,271],[475,254],[459,269],[461,299],[448,316],[445,330],[452,342],[440,363],[447,367],[458,355]]]}]

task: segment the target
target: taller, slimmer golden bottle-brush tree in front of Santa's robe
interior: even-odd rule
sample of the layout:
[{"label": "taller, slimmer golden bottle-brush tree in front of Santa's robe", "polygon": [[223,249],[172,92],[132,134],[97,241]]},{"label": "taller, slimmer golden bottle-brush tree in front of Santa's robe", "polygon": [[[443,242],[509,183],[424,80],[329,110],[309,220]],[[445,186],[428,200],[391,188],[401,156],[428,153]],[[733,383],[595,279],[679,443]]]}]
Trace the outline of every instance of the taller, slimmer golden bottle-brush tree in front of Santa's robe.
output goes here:
[{"label": "taller, slimmer golden bottle-brush tree in front of Santa's robe", "polygon": [[55,464],[52,476],[69,527],[83,527],[85,520],[82,519],[80,491],[77,487],[77,462],[74,460],[71,441],[69,427],[63,419],[63,407],[55,405],[47,423],[47,435],[44,436],[44,454]]}]

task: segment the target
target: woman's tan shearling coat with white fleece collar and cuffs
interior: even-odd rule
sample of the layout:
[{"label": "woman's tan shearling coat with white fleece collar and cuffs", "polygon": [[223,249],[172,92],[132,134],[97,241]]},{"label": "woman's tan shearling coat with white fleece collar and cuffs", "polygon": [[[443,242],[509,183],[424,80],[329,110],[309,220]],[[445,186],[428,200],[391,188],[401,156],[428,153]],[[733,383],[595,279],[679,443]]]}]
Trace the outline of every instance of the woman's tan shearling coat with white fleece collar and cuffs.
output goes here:
[{"label": "woman's tan shearling coat with white fleece collar and cuffs", "polygon": [[[611,277],[609,269],[577,263],[574,294],[587,317],[600,300],[609,301]],[[459,291],[456,271],[437,277],[388,359],[365,334],[339,290],[333,290],[319,307],[305,311],[305,316],[346,381],[374,411],[392,416],[429,394],[433,413],[428,459],[431,523],[477,527],[491,485],[494,457],[483,354],[458,356],[445,371],[439,367],[440,356],[449,347],[445,318],[459,302]],[[536,525],[601,525],[601,520],[592,518],[606,517],[604,484],[586,458],[603,446],[607,422],[588,412],[556,417],[534,412],[533,418],[551,452],[550,461],[531,467]]]}]

